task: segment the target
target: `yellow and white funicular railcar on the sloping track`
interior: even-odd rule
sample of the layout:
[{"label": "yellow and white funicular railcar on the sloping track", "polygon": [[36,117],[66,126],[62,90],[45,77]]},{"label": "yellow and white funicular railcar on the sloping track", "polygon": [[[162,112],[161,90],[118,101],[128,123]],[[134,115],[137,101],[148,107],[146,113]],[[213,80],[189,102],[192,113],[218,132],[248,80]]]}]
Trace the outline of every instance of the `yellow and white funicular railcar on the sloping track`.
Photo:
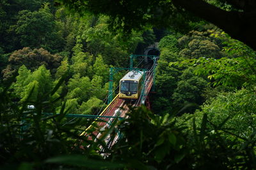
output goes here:
[{"label": "yellow and white funicular railcar on the sloping track", "polygon": [[136,100],[140,97],[143,71],[129,71],[120,80],[119,98]]}]

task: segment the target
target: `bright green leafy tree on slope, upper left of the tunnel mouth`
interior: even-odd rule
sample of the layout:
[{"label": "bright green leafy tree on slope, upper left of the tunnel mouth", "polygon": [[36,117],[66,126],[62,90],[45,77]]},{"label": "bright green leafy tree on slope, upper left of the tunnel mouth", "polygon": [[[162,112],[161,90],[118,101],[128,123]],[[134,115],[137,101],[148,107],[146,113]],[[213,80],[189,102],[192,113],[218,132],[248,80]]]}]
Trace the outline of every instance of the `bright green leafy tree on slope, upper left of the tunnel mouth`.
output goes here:
[{"label": "bright green leafy tree on slope, upper left of the tunnel mouth", "polygon": [[[92,20],[94,17],[90,17]],[[102,55],[106,64],[120,66],[127,63],[127,58],[130,53],[134,52],[138,42],[140,42],[140,32],[131,32],[131,36],[127,39],[122,39],[120,34],[112,34],[108,29],[109,17],[97,17],[95,24],[86,25],[81,35],[81,40],[85,43],[84,48],[95,57]],[[128,64],[128,63],[127,63]]]}]

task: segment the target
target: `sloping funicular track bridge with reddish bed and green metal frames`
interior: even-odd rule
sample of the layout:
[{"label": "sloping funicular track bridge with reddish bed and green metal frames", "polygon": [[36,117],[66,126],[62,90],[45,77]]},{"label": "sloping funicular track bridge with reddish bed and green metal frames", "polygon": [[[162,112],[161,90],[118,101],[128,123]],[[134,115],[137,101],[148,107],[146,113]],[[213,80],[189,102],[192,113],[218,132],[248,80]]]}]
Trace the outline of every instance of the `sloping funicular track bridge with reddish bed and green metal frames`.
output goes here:
[{"label": "sloping funicular track bridge with reddish bed and green metal frames", "polygon": [[[152,48],[155,50],[154,48]],[[150,50],[148,50],[150,52]],[[150,60],[148,62],[149,64],[146,64],[147,66],[145,68],[136,68],[133,67],[133,60],[135,58],[142,58],[144,61]],[[90,125],[87,129],[85,129],[84,132],[81,133],[81,136],[88,136],[88,139],[102,139],[102,133],[100,129],[108,129],[113,121],[116,118],[126,118],[127,112],[129,112],[129,106],[132,107],[138,107],[141,106],[141,104],[145,104],[147,108],[150,108],[150,103],[148,99],[148,94],[150,93],[150,90],[154,89],[154,79],[156,74],[156,66],[157,66],[157,60],[159,57],[159,53],[157,55],[131,55],[130,56],[130,65],[129,68],[116,68],[111,67],[110,68],[110,74],[109,74],[109,94],[108,94],[108,106],[97,116],[95,116],[96,120],[93,122],[92,125]],[[143,61],[141,60],[141,62]],[[140,62],[140,63],[141,63]],[[139,64],[140,65],[140,64]],[[136,101],[125,101],[125,99],[121,99],[119,95],[117,94],[115,97],[113,97],[113,94],[115,93],[115,90],[113,91],[113,75],[121,70],[127,70],[127,71],[138,71],[143,72],[143,83],[141,83],[141,94],[139,99]],[[96,125],[95,125],[96,124]],[[96,131],[90,131],[92,127],[97,127],[98,130]],[[118,135],[115,136],[115,138],[112,140],[109,138],[109,136],[106,136],[104,141],[108,144],[108,147],[111,148],[111,146],[115,143],[115,141],[119,138]],[[111,140],[111,141],[110,141]]]}]

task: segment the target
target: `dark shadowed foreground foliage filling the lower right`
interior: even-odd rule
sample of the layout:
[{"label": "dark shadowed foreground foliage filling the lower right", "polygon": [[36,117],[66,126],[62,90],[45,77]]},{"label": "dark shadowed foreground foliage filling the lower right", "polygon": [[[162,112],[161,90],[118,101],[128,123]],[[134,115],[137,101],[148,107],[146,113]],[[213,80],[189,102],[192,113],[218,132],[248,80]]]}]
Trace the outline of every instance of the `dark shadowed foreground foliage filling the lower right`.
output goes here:
[{"label": "dark shadowed foreground foliage filling the lower right", "polygon": [[[213,120],[212,115],[201,114],[200,118],[191,115],[173,118],[168,114],[152,115],[145,108],[132,110],[128,125],[121,126],[126,138],[113,148],[111,159],[122,160],[135,169],[255,167],[255,129],[248,136],[240,137],[223,127],[227,119]],[[227,124],[234,122],[232,119]]]}]

